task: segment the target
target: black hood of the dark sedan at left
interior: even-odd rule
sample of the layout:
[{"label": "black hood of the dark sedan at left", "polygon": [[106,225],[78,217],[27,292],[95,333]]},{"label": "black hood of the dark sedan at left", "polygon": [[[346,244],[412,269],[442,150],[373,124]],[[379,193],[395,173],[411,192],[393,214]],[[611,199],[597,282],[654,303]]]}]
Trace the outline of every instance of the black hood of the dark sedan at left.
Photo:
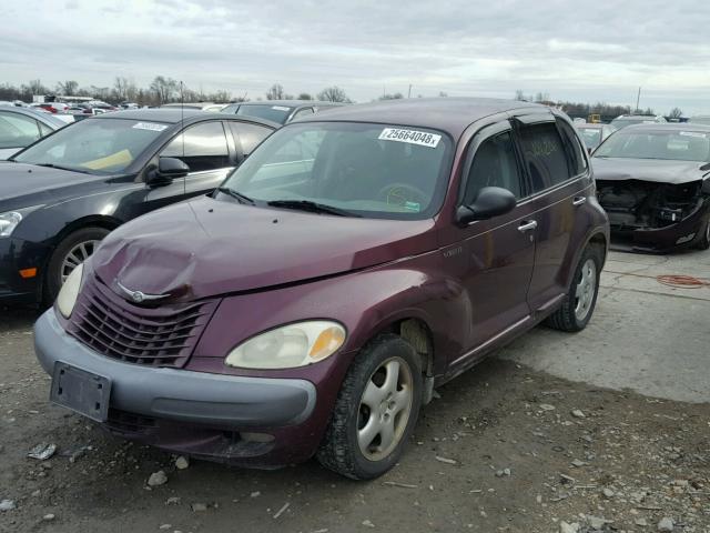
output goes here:
[{"label": "black hood of the dark sedan at left", "polygon": [[[100,177],[71,170],[0,161],[0,209],[53,203],[59,199],[57,189],[100,180]],[[30,198],[24,201],[23,197]]]}]

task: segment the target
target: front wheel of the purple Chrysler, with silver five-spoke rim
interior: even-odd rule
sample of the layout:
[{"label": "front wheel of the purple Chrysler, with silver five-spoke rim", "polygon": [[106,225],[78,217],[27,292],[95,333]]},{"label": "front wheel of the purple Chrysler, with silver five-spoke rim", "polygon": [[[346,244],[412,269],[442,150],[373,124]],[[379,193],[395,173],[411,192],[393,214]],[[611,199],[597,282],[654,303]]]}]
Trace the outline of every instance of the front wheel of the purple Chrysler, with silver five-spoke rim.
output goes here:
[{"label": "front wheel of the purple Chrysler, with silver five-spoke rim", "polygon": [[[390,394],[393,389],[387,391],[386,378],[394,374],[397,364],[396,392]],[[419,356],[414,348],[394,334],[375,339],[358,354],[343,381],[316,454],[321,464],[353,480],[372,480],[387,472],[397,463],[412,435],[422,405],[422,390]],[[369,402],[379,402],[378,408],[369,409]],[[365,431],[368,425],[372,431]],[[387,429],[389,425],[392,430]],[[377,432],[378,429],[382,431]]]}]

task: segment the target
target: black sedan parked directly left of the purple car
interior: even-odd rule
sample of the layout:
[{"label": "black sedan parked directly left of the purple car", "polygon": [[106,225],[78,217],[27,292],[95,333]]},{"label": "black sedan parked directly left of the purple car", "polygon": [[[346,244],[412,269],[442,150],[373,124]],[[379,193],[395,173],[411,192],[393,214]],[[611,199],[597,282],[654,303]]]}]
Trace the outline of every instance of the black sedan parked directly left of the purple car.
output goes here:
[{"label": "black sedan parked directly left of the purple car", "polygon": [[277,127],[191,110],[121,111],[0,163],[0,303],[52,301],[111,230],[212,191]]}]

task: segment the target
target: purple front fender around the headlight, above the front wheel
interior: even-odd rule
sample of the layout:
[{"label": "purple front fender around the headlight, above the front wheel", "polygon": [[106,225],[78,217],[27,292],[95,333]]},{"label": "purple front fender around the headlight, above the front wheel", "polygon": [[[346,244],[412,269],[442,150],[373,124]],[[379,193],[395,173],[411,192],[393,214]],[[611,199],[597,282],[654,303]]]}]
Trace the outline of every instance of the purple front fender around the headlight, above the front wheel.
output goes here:
[{"label": "purple front fender around the headlight, above the front wheel", "polygon": [[443,274],[440,261],[437,250],[317,282],[225,298],[202,335],[193,361],[209,358],[219,360],[210,363],[210,371],[260,375],[227,369],[222,361],[234,346],[263,331],[303,320],[336,320],[348,333],[341,353],[349,355],[329,358],[306,369],[267,372],[312,375],[315,366],[328,372],[336,360],[348,366],[352,356],[379,332],[394,322],[415,318],[430,330],[434,370],[443,373],[445,355],[463,350],[460,340],[470,326],[470,302],[459,281]]}]

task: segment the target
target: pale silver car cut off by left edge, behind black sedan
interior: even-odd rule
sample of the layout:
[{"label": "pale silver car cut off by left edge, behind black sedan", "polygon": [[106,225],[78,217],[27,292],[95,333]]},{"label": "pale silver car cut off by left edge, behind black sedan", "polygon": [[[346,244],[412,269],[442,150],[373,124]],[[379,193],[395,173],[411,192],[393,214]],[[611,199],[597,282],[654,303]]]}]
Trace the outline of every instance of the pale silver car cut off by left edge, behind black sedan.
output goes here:
[{"label": "pale silver car cut off by left edge, behind black sedan", "polygon": [[50,113],[14,105],[0,105],[0,160],[67,125]]}]

